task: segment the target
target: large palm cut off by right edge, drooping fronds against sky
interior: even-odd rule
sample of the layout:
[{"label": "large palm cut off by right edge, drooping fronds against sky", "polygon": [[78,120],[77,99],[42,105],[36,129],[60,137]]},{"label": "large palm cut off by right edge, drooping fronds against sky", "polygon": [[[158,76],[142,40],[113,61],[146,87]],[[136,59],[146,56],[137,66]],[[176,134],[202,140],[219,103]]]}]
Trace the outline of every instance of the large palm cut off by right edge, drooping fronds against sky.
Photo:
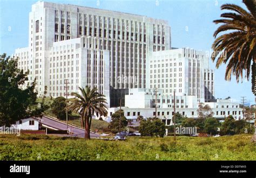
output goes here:
[{"label": "large palm cut off by right edge, drooping fronds against sky", "polygon": [[[222,13],[223,19],[214,20],[215,24],[221,24],[214,32],[214,38],[221,32],[232,30],[230,33],[220,35],[212,44],[212,60],[217,60],[216,68],[221,63],[227,63],[225,80],[231,80],[231,74],[243,77],[245,72],[246,79],[249,80],[250,69],[252,67],[252,91],[256,96],[254,88],[256,78],[256,1],[243,0],[247,9],[242,9],[235,4],[221,5],[221,10],[231,10],[232,12]],[[219,53],[219,55],[218,55]],[[251,66],[252,62],[252,66]]]}]

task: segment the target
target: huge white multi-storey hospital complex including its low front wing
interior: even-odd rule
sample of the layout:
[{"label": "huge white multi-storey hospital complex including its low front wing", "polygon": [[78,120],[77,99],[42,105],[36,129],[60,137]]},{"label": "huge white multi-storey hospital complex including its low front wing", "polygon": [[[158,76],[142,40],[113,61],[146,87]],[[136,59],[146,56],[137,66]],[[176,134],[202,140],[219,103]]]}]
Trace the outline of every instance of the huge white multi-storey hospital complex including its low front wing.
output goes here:
[{"label": "huge white multi-storey hospital complex including its low front wing", "polygon": [[[214,71],[205,53],[171,48],[166,20],[37,2],[29,13],[28,40],[28,47],[16,49],[14,56],[19,58],[19,68],[29,70],[25,84],[36,79],[39,96],[45,86],[48,96],[66,96],[64,80],[68,79],[68,94],[88,85],[106,95],[112,107],[109,116],[121,100],[127,117],[137,117],[138,112],[152,117],[157,103],[159,116],[170,118],[173,105],[168,101],[175,91],[183,102],[177,109],[187,111],[187,117],[197,117],[198,103],[206,102],[216,113],[214,117],[231,114],[241,118],[239,104],[214,98]],[[152,96],[156,88],[157,101]],[[135,96],[142,99],[132,102]],[[224,105],[223,110],[217,105]]]}]

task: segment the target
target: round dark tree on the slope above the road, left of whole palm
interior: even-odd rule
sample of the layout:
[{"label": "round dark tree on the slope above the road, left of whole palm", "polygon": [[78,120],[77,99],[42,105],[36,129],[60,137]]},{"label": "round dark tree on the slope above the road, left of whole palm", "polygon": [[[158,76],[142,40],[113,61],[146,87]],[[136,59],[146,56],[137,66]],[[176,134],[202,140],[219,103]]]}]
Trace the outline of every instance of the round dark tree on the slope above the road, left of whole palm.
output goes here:
[{"label": "round dark tree on the slope above the road, left of whole palm", "polygon": [[[54,99],[53,103],[51,104],[51,111],[56,117],[60,120],[66,119],[66,98],[63,96],[59,96]],[[71,114],[71,111],[68,111],[68,115]]]}]

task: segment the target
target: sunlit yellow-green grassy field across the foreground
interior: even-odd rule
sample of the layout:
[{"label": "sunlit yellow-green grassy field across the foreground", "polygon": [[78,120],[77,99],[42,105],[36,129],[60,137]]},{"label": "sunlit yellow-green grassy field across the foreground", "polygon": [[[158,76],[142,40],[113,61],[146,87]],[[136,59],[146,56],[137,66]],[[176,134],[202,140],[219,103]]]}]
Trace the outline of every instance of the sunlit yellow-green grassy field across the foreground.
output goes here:
[{"label": "sunlit yellow-green grassy field across the foreground", "polygon": [[126,141],[0,134],[0,160],[256,160],[251,135]]}]

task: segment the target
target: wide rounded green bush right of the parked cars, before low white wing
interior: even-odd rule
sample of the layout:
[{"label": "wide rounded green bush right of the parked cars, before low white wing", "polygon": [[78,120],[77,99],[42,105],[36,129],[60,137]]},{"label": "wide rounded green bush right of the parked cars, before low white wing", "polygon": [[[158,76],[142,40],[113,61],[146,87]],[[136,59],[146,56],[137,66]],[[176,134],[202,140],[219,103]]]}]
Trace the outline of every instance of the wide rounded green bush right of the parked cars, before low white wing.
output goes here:
[{"label": "wide rounded green bush right of the parked cars, before low white wing", "polygon": [[140,122],[139,132],[142,136],[164,137],[165,124],[159,118],[147,118]]}]

